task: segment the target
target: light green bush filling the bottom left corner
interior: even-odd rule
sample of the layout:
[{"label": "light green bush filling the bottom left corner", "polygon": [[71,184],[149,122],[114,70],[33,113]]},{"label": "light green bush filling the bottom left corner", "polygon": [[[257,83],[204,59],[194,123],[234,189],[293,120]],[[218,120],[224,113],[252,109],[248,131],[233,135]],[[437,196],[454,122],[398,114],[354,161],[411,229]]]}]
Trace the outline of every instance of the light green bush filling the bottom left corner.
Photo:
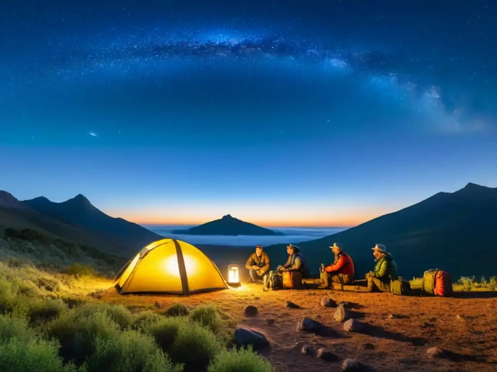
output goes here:
[{"label": "light green bush filling the bottom left corner", "polygon": [[0,371],[76,372],[59,358],[59,343],[41,338],[23,319],[0,315],[0,339]]}]

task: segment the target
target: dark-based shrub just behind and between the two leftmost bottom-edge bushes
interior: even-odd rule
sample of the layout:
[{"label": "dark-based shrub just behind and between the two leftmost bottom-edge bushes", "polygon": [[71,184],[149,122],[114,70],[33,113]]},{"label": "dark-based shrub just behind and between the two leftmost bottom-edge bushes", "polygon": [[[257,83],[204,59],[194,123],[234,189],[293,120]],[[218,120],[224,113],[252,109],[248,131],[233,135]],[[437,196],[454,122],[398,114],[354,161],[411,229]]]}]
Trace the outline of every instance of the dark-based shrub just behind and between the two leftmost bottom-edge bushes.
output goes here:
[{"label": "dark-based shrub just behind and between the two leftmost bottom-edge bushes", "polygon": [[110,314],[95,312],[81,316],[75,309],[69,310],[49,324],[48,335],[55,337],[61,344],[60,355],[65,360],[82,364],[94,351],[93,341],[109,339],[119,333],[117,324]]}]

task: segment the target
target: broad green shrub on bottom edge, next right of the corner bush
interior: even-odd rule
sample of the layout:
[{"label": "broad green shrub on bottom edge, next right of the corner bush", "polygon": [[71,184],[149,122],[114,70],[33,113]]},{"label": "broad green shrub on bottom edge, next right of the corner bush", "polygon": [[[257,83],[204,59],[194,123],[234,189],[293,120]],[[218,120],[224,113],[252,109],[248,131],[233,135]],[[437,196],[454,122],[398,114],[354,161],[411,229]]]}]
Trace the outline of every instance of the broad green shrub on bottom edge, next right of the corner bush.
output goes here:
[{"label": "broad green shrub on bottom edge, next right of the corner bush", "polygon": [[181,372],[159,349],[150,335],[135,330],[95,340],[95,351],[87,362],[89,371]]}]

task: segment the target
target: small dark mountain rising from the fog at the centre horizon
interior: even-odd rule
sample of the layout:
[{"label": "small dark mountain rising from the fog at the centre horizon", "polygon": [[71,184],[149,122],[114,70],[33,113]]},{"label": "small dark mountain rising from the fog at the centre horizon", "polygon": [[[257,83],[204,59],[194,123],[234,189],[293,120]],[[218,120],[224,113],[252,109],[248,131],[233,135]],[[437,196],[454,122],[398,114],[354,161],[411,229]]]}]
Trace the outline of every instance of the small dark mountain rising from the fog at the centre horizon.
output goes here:
[{"label": "small dark mountain rising from the fog at the centre horizon", "polygon": [[223,218],[192,227],[190,229],[173,230],[173,234],[185,235],[284,235],[263,227],[239,220],[227,214]]}]

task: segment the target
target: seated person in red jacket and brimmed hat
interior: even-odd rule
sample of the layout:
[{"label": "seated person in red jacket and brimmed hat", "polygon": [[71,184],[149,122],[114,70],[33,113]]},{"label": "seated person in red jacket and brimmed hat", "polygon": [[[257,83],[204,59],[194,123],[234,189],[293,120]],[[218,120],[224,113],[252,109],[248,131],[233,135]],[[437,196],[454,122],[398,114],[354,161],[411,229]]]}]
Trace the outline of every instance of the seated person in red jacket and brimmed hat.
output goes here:
[{"label": "seated person in red jacket and brimmed hat", "polygon": [[335,255],[335,260],[326,267],[321,264],[321,286],[319,288],[330,288],[332,283],[338,283],[340,290],[343,291],[343,285],[354,280],[354,261],[342,250],[340,243],[333,243],[330,248]]}]

